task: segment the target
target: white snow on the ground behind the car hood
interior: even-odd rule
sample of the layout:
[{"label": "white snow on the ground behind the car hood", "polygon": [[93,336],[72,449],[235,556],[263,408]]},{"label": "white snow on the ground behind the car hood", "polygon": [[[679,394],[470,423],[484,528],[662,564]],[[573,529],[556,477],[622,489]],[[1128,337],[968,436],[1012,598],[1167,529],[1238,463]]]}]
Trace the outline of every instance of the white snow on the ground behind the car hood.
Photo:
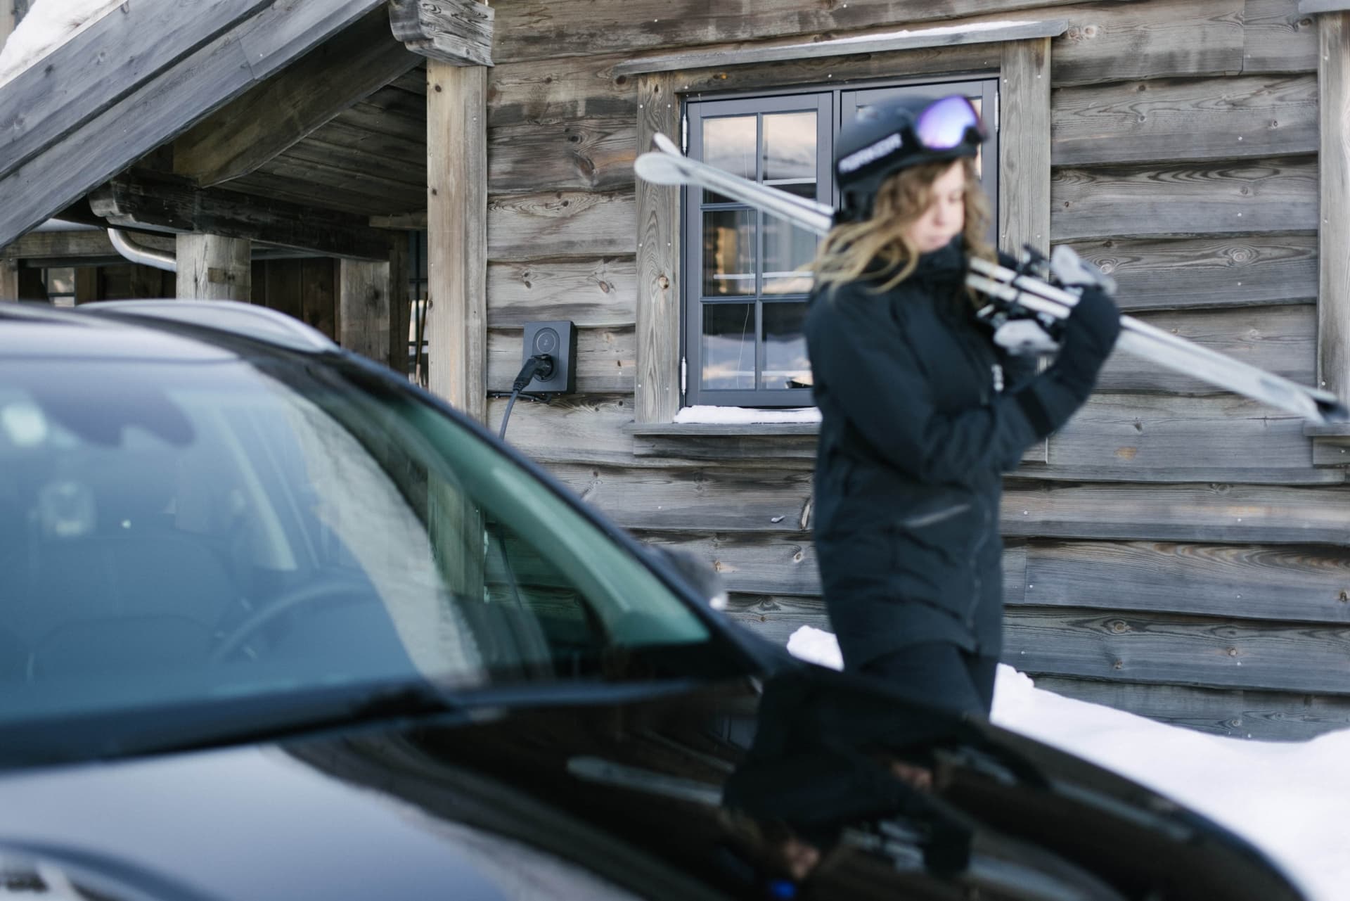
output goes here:
[{"label": "white snow on the ground behind the car hood", "polygon": [[[841,669],[830,632],[803,625],[787,650]],[[999,665],[992,721],[1120,773],[1243,836],[1315,901],[1350,901],[1350,729],[1250,742],[1157,723],[1034,686]]]}]

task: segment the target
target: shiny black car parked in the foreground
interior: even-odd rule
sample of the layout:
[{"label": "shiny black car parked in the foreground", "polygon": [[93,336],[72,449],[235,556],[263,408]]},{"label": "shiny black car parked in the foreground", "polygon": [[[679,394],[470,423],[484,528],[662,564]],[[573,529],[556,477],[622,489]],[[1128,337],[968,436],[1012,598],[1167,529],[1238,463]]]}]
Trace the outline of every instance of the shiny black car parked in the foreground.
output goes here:
[{"label": "shiny black car parked in the foreground", "polygon": [[1300,898],[986,721],[801,663],[278,313],[0,305],[0,893]]}]

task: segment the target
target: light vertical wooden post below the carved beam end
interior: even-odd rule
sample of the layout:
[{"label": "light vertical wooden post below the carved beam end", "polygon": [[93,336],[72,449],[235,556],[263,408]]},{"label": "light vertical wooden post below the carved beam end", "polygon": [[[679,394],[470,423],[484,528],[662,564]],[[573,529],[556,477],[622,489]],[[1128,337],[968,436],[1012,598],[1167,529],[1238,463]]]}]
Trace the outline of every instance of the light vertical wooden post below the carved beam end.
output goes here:
[{"label": "light vertical wooden post below the carved beam end", "polygon": [[428,61],[429,386],[487,415],[487,70]]}]

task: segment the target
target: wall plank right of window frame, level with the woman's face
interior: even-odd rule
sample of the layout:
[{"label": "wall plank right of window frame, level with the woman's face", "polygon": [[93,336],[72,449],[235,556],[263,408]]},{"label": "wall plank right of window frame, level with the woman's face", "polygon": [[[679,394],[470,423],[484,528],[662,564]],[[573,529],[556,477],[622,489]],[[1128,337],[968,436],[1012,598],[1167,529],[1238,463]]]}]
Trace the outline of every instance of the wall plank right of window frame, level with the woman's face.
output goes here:
[{"label": "wall plank right of window frame, level with the woman's face", "polygon": [[1269,235],[1318,228],[1314,157],[1057,169],[1050,239]]}]

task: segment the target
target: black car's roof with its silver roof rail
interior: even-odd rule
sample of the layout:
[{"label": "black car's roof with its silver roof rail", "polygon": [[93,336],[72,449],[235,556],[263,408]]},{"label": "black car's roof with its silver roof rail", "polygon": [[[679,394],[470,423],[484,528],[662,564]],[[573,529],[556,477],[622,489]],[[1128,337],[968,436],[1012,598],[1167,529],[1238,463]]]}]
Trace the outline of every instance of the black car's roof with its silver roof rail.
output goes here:
[{"label": "black car's roof with its silver roof rail", "polygon": [[338,350],[316,328],[274,309],[236,301],[128,300],[74,309],[0,304],[0,355],[9,358],[238,358],[238,342],[219,343],[227,336],[309,354]]}]

